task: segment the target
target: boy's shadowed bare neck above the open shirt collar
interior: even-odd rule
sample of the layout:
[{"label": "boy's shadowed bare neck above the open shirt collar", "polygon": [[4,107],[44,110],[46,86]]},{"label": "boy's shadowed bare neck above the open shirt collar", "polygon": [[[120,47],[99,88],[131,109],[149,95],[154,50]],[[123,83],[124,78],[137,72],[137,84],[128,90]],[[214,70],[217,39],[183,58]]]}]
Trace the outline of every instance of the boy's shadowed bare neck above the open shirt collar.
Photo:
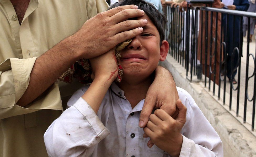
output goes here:
[{"label": "boy's shadowed bare neck above the open shirt collar", "polygon": [[121,83],[117,83],[117,85],[124,91],[125,97],[133,109],[141,100],[145,99],[152,81],[151,76],[143,80],[135,80],[130,77],[129,79],[122,79]]}]

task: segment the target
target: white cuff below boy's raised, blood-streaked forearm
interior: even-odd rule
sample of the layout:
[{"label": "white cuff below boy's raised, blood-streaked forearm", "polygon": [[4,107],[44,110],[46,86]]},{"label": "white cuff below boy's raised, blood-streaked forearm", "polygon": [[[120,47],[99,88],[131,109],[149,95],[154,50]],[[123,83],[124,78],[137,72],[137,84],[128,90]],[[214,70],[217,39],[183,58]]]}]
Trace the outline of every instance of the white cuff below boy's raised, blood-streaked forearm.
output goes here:
[{"label": "white cuff below boy's raised, blood-streaked forearm", "polygon": [[79,98],[73,106],[83,115],[84,119],[90,124],[97,135],[95,140],[92,141],[92,145],[99,143],[102,139],[110,134],[97,114],[83,98]]}]

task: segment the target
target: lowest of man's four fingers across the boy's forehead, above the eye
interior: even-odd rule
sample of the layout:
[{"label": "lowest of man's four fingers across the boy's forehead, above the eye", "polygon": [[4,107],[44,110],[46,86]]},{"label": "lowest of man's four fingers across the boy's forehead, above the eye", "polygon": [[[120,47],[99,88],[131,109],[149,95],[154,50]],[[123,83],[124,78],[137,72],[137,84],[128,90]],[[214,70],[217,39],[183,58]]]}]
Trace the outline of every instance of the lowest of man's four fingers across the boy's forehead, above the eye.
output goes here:
[{"label": "lowest of man's four fingers across the boy's forehead, above the eye", "polygon": [[130,31],[125,31],[125,32],[121,32],[121,33],[117,33],[116,35],[114,35],[114,41],[116,41],[115,43],[121,43],[124,42],[128,39],[134,38],[137,35],[140,35],[143,32],[143,28],[139,27]]}]

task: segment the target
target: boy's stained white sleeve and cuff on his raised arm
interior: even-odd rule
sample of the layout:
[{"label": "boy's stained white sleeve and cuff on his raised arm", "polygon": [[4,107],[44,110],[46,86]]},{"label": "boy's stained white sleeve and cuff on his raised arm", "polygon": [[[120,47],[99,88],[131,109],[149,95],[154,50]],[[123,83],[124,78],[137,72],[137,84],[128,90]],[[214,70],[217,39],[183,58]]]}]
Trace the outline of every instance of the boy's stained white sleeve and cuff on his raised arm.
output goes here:
[{"label": "boy's stained white sleeve and cuff on his raised arm", "polygon": [[90,156],[110,133],[88,103],[79,98],[44,134],[49,156]]}]

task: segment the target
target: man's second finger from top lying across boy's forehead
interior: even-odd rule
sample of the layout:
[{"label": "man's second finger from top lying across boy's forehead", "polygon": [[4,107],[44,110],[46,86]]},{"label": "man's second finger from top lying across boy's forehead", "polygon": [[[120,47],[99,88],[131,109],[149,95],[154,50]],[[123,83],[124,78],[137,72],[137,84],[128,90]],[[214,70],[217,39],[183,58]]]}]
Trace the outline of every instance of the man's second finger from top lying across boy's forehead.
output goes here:
[{"label": "man's second finger from top lying across boy's forehead", "polygon": [[111,21],[117,24],[130,18],[143,16],[144,14],[145,12],[140,9],[125,9],[111,16]]}]

